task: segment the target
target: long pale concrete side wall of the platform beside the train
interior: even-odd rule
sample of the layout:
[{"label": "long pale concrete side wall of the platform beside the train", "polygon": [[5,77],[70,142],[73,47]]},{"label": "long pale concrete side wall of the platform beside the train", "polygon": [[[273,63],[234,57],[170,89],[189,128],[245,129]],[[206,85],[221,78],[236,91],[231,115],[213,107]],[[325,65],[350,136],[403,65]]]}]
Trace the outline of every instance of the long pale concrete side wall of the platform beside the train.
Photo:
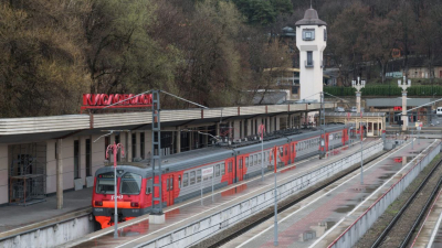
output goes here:
[{"label": "long pale concrete side wall of the platform beside the train", "polygon": [[[364,150],[364,159],[370,158],[382,150],[383,142],[377,142],[376,144],[367,147]],[[278,201],[282,201],[291,195],[299,193],[301,191],[315,185],[316,183],[324,181],[356,163],[359,163],[360,159],[360,152],[357,152],[281,184],[277,186],[277,198]],[[149,240],[138,247],[158,248],[192,246],[270,206],[273,206],[273,204],[274,190],[270,188],[262,194],[255,195],[224,209],[220,209],[219,212],[204,216],[197,222],[189,223],[186,227],[167,233],[157,239]]]}]

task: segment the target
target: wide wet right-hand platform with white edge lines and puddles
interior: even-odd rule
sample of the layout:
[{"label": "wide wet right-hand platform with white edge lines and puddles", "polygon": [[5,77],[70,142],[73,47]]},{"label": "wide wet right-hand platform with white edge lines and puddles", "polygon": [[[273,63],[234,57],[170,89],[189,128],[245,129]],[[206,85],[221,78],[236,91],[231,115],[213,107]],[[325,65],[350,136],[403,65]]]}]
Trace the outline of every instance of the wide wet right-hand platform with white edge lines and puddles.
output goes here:
[{"label": "wide wet right-hand platform with white edge lines and puddles", "polygon": [[[278,214],[278,247],[327,247],[417,162],[435,140],[396,148],[360,170]],[[440,209],[439,209],[440,211]],[[439,212],[440,213],[440,212]],[[274,219],[269,219],[223,247],[274,247]]]}]

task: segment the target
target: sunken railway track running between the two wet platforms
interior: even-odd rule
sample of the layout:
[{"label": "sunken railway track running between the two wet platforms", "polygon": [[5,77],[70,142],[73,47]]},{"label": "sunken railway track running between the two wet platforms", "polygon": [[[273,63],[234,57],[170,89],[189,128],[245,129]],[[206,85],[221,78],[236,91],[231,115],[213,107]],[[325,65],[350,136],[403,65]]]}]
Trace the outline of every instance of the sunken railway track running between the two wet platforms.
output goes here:
[{"label": "sunken railway track running between the two wet platforms", "polygon": [[[382,157],[383,154],[386,154],[387,152],[380,152],[377,155],[373,155],[371,158],[368,158],[364,161],[364,166],[366,166],[367,164],[369,164],[370,162],[379,159],[380,157]],[[345,177],[346,175],[360,170],[360,165],[359,163],[352,165],[351,168],[347,169],[345,172],[339,173],[337,176],[325,181],[324,183],[320,183],[319,185],[317,185],[315,188],[312,190],[306,190],[306,192],[302,192],[301,195],[295,195],[290,197],[288,200],[284,200],[282,202],[278,202],[278,207],[277,207],[277,213],[282,213],[285,209],[292,207],[293,205],[302,202],[303,200],[312,196],[313,194],[324,190],[325,187],[332,185],[333,183],[335,183],[336,181]],[[273,212],[273,206],[271,207],[272,209],[267,211],[266,214],[264,215],[259,215],[257,217],[252,216],[251,218],[253,218],[252,220],[246,219],[242,223],[242,228],[241,229],[235,229],[234,231],[232,231],[232,234],[229,235],[224,235],[224,237],[222,237],[221,239],[219,239],[218,241],[213,242],[212,245],[210,245],[209,247],[211,248],[215,248],[215,247],[221,247],[222,245],[229,242],[230,240],[241,236],[242,234],[249,231],[250,229],[252,229],[253,227],[266,222],[270,218],[274,217],[274,212]],[[220,234],[222,235],[222,234]],[[199,247],[198,245],[193,246],[193,247]]]}]

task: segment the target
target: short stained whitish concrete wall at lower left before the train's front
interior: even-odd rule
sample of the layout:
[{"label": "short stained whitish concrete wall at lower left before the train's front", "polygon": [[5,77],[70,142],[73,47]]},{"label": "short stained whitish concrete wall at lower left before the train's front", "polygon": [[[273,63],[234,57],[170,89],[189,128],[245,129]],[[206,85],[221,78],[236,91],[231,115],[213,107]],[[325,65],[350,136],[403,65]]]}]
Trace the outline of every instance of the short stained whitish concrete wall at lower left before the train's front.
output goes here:
[{"label": "short stained whitish concrete wall at lower left before the train's front", "polygon": [[66,219],[59,224],[35,228],[23,235],[0,240],[2,248],[17,247],[55,247],[61,244],[81,238],[94,231],[94,220],[90,214],[77,218]]}]

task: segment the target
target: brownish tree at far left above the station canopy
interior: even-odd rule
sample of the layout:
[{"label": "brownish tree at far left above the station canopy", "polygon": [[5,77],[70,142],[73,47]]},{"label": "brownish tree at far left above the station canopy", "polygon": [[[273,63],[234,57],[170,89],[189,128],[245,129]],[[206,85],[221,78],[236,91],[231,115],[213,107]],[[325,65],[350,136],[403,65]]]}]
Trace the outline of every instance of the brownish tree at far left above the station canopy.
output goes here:
[{"label": "brownish tree at far left above the station canopy", "polygon": [[86,2],[0,3],[0,116],[73,114],[88,79],[82,53]]}]

